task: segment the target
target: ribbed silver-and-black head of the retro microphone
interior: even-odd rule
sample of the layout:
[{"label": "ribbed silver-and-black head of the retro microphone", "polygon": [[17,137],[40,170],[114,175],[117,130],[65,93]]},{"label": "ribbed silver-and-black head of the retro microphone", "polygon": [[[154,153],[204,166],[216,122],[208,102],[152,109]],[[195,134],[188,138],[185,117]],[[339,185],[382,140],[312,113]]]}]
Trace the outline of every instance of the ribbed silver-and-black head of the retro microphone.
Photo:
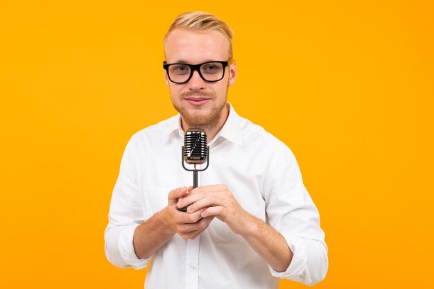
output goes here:
[{"label": "ribbed silver-and-black head of the retro microphone", "polygon": [[203,164],[208,157],[207,132],[201,128],[189,128],[184,133],[184,161],[187,164]]}]

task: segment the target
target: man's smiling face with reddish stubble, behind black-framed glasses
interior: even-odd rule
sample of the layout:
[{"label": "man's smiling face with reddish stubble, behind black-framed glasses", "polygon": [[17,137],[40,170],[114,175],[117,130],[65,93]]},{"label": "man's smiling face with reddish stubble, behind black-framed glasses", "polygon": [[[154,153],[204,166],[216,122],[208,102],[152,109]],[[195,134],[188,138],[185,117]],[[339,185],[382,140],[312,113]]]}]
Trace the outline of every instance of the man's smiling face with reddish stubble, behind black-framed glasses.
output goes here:
[{"label": "man's smiling face with reddish stubble, behind black-framed glasses", "polygon": [[[173,30],[166,40],[166,63],[200,64],[208,61],[229,60],[229,41],[218,31]],[[189,82],[176,84],[168,79],[172,103],[189,125],[214,126],[223,115],[227,88],[234,84],[236,67],[225,68],[225,77],[218,82],[207,82],[193,72]]]}]

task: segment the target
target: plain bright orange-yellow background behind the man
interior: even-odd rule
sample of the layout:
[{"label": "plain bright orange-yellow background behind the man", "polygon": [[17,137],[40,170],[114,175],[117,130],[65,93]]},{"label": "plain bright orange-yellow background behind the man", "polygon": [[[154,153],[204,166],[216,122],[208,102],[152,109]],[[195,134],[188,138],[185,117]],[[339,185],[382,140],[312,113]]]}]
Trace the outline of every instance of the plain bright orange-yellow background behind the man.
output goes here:
[{"label": "plain bright orange-yellow background behind the man", "polygon": [[0,287],[143,288],[105,259],[112,189],[130,136],[175,114],[168,26],[205,10],[236,33],[229,101],[320,210],[318,288],[433,288],[433,1],[211,2],[0,4]]}]

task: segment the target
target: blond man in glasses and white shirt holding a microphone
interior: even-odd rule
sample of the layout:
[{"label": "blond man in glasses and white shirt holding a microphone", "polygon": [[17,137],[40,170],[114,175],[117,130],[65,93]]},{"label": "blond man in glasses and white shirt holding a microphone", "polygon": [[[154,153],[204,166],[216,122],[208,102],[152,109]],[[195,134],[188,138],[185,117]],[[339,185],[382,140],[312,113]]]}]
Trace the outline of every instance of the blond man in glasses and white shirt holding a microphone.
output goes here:
[{"label": "blond man in glasses and white shirt holding a microphone", "polygon": [[[180,114],[137,132],[125,148],[105,253],[121,268],[150,261],[146,288],[277,288],[279,278],[313,285],[327,272],[318,210],[295,157],[227,103],[236,79],[232,34],[205,12],[175,19],[164,78]],[[186,187],[192,175],[180,164],[188,128],[204,129],[210,147],[196,189]]]}]

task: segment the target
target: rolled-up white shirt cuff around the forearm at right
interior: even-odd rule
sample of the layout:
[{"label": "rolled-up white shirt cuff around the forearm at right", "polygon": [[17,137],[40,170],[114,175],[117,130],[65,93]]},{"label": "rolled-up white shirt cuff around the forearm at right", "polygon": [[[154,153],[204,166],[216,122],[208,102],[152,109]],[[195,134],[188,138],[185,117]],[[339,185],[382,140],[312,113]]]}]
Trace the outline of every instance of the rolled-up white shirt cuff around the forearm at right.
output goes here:
[{"label": "rolled-up white shirt cuff around the forearm at right", "polygon": [[283,236],[286,240],[286,243],[288,244],[289,249],[293,252],[293,259],[291,260],[288,269],[286,269],[284,272],[277,272],[271,268],[270,265],[268,265],[270,273],[272,276],[281,279],[303,279],[307,261],[306,244],[304,244],[300,238],[295,236]]}]

